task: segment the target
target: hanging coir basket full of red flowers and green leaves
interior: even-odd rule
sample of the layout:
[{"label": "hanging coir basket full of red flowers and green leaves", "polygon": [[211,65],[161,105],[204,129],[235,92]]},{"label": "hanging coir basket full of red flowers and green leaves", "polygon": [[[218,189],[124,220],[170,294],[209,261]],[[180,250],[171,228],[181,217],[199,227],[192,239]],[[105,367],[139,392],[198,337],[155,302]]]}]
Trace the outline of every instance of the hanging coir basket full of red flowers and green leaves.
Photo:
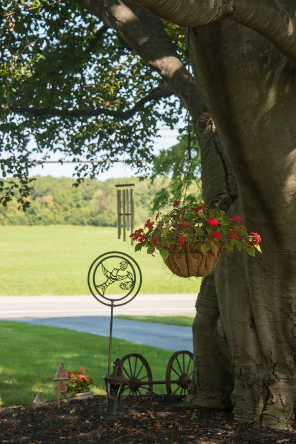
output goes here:
[{"label": "hanging coir basket full of red flowers and green leaves", "polygon": [[154,256],[159,252],[167,267],[177,276],[206,276],[218,263],[225,248],[233,251],[246,250],[255,256],[261,253],[258,233],[248,233],[241,224],[242,218],[226,216],[225,211],[210,209],[200,201],[199,205],[181,206],[173,203],[170,213],[156,215],[156,222],[146,221],[144,228],[131,234],[135,251],[146,248]]}]

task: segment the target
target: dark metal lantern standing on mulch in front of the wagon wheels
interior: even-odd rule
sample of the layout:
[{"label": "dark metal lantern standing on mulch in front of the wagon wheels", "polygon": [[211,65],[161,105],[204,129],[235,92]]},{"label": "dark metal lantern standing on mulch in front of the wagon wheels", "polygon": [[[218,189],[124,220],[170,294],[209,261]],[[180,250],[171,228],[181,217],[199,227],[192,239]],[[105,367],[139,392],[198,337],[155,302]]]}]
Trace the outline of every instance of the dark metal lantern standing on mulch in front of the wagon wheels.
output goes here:
[{"label": "dark metal lantern standing on mulch in front of the wagon wheels", "polygon": [[123,376],[122,364],[119,358],[114,361],[113,373],[103,376],[106,384],[106,409],[102,412],[102,419],[116,421],[123,416],[120,409],[120,395],[123,386],[129,382]]}]

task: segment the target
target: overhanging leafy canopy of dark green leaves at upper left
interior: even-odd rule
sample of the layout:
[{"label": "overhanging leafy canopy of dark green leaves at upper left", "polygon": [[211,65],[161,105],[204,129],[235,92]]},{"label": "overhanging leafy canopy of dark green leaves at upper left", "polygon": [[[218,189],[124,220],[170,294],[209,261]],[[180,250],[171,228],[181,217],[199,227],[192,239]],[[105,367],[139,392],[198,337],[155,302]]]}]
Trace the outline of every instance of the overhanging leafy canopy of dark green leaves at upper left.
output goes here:
[{"label": "overhanging leafy canopy of dark green leaves at upper left", "polygon": [[[110,24],[76,2],[4,0],[0,11],[2,203],[20,186],[26,208],[30,168],[53,152],[90,161],[77,165],[78,183],[123,157],[136,174],[149,175],[158,130],[173,128],[180,118],[182,125],[184,117],[153,60],[147,63]],[[182,28],[161,26],[185,61]]]}]

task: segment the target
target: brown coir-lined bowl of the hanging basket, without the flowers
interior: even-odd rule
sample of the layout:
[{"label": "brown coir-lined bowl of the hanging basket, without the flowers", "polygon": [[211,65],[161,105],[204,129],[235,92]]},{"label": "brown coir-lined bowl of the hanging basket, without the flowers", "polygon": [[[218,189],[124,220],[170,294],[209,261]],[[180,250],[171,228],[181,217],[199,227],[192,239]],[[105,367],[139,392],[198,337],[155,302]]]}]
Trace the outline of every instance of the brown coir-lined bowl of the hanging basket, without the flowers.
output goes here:
[{"label": "brown coir-lined bowl of the hanging basket, without the flowers", "polygon": [[214,242],[211,250],[203,253],[201,242],[184,245],[171,245],[165,265],[180,277],[207,276],[218,263],[225,243]]}]

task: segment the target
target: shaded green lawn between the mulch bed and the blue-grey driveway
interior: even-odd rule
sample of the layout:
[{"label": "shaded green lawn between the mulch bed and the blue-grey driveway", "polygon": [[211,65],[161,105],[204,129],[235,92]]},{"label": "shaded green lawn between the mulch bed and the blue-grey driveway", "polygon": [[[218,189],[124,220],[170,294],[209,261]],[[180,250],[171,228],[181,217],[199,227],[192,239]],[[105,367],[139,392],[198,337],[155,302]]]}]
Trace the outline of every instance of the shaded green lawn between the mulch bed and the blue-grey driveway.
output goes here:
[{"label": "shaded green lawn between the mulch bed and the blue-grey driveway", "polygon": [[[47,400],[56,396],[53,377],[60,362],[66,370],[85,367],[94,379],[94,393],[105,393],[102,376],[108,368],[108,337],[18,322],[0,322],[0,405],[32,403],[42,392]],[[148,361],[155,380],[163,380],[172,352],[113,339],[112,358],[140,353]],[[165,393],[165,386],[155,386]]]}]

